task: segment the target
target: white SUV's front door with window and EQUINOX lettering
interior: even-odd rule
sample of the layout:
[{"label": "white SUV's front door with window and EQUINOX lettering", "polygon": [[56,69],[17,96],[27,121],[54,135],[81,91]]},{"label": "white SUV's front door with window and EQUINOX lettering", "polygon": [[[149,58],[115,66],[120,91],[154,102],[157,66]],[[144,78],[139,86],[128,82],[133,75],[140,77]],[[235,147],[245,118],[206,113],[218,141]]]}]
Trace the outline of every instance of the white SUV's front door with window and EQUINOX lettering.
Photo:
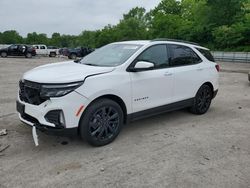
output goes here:
[{"label": "white SUV's front door with window and EQUINOX lettering", "polygon": [[155,68],[130,72],[133,112],[171,103],[173,72],[169,68],[167,46],[161,44],[149,47],[137,57],[134,63],[138,61],[154,63]]}]

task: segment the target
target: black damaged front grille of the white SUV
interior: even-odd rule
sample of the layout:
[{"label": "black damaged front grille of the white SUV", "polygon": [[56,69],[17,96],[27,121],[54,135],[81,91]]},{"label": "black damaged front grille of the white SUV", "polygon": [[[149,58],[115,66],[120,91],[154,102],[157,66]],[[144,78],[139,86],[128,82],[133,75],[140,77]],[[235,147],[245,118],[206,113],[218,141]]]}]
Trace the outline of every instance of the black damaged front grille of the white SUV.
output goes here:
[{"label": "black damaged front grille of the white SUV", "polygon": [[40,97],[41,85],[39,83],[30,82],[30,81],[21,81],[19,82],[19,98],[21,101],[24,101],[33,105],[40,105],[46,99]]}]

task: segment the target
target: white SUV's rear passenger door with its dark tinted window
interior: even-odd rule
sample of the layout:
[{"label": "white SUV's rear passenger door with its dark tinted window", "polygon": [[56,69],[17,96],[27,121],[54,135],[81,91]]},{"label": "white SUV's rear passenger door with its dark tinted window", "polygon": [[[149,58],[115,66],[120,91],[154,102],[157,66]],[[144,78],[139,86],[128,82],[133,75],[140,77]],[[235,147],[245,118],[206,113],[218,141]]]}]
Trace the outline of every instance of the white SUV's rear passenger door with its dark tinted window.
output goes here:
[{"label": "white SUV's rear passenger door with its dark tinted window", "polygon": [[195,97],[206,76],[201,58],[187,46],[168,44],[168,49],[175,72],[173,102]]}]

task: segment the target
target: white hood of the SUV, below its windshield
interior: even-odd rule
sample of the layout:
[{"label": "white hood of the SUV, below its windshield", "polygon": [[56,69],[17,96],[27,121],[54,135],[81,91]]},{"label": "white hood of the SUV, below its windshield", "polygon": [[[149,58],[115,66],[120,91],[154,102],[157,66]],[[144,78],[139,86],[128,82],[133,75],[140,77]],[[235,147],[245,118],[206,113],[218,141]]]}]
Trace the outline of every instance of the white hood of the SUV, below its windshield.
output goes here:
[{"label": "white hood of the SUV, below its windshield", "polygon": [[83,81],[87,76],[113,71],[114,67],[97,67],[73,61],[47,64],[34,68],[23,75],[23,80],[37,83],[71,83]]}]

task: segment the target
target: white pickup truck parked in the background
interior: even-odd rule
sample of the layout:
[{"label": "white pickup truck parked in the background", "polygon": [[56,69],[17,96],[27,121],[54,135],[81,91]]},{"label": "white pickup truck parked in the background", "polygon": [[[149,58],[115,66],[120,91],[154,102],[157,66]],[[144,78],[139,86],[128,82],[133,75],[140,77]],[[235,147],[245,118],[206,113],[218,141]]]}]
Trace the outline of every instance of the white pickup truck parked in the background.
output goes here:
[{"label": "white pickup truck parked in the background", "polygon": [[54,46],[46,46],[44,44],[33,45],[36,49],[36,54],[41,56],[56,57],[59,55],[59,49]]}]

